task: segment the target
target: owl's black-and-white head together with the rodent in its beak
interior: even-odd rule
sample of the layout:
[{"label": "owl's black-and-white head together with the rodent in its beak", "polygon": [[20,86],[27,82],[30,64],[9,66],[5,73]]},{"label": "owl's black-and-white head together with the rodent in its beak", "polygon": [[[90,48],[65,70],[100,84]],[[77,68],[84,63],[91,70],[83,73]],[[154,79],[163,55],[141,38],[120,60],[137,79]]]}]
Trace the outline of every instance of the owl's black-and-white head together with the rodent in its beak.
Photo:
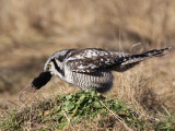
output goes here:
[{"label": "owl's black-and-white head together with the rodent in its beak", "polygon": [[[22,94],[27,88],[33,87],[35,91],[39,90],[40,87],[43,87],[44,85],[46,85],[50,81],[52,75],[57,75],[60,78],[62,78],[65,75],[63,71],[62,71],[63,61],[71,50],[72,49],[60,50],[60,51],[55,52],[54,55],[51,55],[48,58],[48,60],[46,61],[45,67],[44,67],[44,72],[42,72],[37,78],[35,78],[32,81],[30,86],[27,86],[21,91],[19,98],[22,103],[24,103],[21,98]],[[34,93],[35,93],[35,91],[34,91]]]}]

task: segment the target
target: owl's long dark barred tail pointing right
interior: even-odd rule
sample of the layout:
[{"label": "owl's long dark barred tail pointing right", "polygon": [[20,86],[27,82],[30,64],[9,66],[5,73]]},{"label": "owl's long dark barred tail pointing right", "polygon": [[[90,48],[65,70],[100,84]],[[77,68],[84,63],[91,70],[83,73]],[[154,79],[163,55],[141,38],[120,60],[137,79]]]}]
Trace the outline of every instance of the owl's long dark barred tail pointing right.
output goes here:
[{"label": "owl's long dark barred tail pointing right", "polygon": [[122,57],[120,58],[120,60],[118,61],[120,67],[115,69],[115,71],[126,71],[132,67],[135,67],[136,64],[138,64],[139,62],[152,58],[152,57],[161,57],[165,55],[165,51],[171,49],[171,47],[164,48],[164,49],[153,49],[150,51],[145,51],[139,55],[129,55],[127,57]]}]

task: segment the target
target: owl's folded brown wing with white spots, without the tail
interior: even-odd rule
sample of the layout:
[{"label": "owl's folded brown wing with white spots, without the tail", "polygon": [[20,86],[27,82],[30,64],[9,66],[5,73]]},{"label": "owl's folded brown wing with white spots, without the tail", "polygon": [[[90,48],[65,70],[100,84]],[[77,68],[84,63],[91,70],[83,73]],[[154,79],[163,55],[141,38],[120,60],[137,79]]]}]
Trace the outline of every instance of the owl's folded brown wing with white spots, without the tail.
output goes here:
[{"label": "owl's folded brown wing with white spots, without the tail", "polygon": [[66,64],[71,71],[91,73],[97,69],[107,68],[115,64],[117,57],[116,52],[105,51],[102,49],[81,49],[71,53]]}]

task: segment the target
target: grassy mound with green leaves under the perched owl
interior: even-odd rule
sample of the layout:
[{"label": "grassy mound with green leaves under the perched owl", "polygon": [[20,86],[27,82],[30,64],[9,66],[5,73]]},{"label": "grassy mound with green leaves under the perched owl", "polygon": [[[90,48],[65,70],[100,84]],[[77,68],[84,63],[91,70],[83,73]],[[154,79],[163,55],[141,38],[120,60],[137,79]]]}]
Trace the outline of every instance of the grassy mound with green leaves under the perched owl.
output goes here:
[{"label": "grassy mound with green leaves under the perched owl", "polygon": [[[165,108],[164,108],[165,109]],[[132,104],[109,99],[95,92],[58,95],[24,108],[11,110],[1,118],[2,130],[175,130],[175,116],[167,109],[161,117],[143,116]]]}]

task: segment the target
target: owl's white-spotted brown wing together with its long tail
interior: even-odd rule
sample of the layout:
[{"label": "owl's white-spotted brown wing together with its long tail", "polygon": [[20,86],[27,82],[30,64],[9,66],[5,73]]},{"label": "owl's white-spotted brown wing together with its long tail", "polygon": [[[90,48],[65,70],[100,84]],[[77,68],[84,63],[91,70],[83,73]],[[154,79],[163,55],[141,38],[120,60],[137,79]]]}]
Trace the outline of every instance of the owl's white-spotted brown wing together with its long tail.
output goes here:
[{"label": "owl's white-spotted brown wing together with its long tail", "polygon": [[164,49],[153,49],[147,52],[130,55],[125,52],[105,51],[102,49],[79,49],[73,51],[67,60],[66,64],[74,72],[95,72],[97,69],[110,68],[112,70],[122,72],[139,62],[165,55],[165,51],[171,47]]}]

